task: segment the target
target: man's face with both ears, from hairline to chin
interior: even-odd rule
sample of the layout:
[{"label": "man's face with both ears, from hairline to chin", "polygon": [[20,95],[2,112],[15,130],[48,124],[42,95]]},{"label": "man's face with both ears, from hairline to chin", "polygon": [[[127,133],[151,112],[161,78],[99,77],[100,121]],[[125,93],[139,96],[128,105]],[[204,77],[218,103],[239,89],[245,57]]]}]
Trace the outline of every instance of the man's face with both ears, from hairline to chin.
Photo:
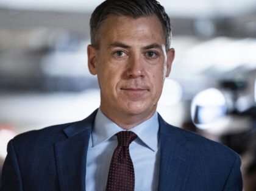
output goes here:
[{"label": "man's face with both ears, from hairline to chin", "polygon": [[88,66],[98,75],[102,112],[151,117],[174,58],[157,16],[110,15],[99,44],[88,46]]}]

